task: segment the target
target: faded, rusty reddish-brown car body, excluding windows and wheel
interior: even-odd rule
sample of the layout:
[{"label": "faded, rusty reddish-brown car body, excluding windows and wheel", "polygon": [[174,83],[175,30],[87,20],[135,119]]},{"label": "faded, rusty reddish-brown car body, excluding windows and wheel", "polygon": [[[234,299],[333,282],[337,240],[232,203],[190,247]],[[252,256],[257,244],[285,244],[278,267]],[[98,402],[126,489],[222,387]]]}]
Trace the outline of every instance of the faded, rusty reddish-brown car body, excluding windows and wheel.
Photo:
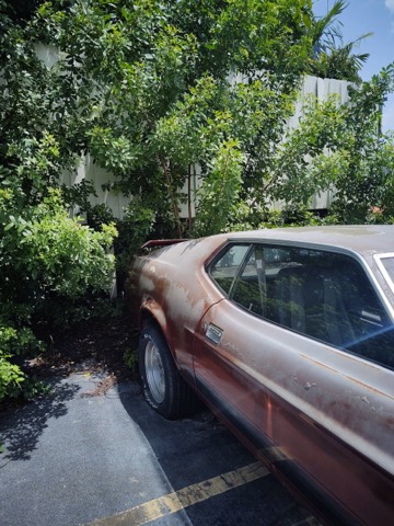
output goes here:
[{"label": "faded, rusty reddish-brown car body, excluding windows and wheel", "polygon": [[[394,373],[252,316],[206,268],[231,242],[345,252],[366,270],[393,320],[393,293],[374,260],[393,251],[393,235],[394,226],[219,235],[164,247],[130,268],[134,306],[157,320],[183,376],[333,524],[393,523]],[[267,459],[262,450],[271,446],[279,454]]]}]

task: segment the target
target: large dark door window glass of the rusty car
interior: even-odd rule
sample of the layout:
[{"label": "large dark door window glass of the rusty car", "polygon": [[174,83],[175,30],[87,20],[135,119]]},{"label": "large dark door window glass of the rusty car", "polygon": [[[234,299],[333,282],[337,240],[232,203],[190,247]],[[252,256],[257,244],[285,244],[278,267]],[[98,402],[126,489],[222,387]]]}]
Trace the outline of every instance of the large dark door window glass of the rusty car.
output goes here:
[{"label": "large dark door window glass of the rusty car", "polygon": [[355,259],[302,248],[256,245],[231,299],[282,327],[394,366],[394,333]]}]

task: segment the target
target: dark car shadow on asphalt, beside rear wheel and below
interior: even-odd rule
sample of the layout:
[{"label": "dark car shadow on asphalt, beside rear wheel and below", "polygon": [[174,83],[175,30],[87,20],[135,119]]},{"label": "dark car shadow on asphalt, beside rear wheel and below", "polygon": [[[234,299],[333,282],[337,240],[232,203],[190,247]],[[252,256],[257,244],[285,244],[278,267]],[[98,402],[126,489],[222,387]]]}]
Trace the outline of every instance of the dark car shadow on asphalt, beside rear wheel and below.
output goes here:
[{"label": "dark car shadow on asphalt, beside rear wheel and below", "polygon": [[[255,458],[212,415],[202,409],[190,418],[166,421],[127,386],[120,401],[144,434],[174,491],[220,477],[255,462]],[[248,482],[185,510],[194,526],[317,525],[309,512],[273,477]],[[170,519],[170,523],[166,521]],[[163,517],[158,525],[176,524]]]}]

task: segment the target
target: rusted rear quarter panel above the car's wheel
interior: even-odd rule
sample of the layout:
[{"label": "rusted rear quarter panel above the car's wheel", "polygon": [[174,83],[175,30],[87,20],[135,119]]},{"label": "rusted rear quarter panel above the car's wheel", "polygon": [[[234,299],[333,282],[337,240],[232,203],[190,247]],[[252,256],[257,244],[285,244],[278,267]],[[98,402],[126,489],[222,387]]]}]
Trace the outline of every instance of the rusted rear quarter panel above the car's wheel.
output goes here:
[{"label": "rusted rear quarter panel above the car's wheel", "polygon": [[223,299],[204,265],[225,236],[190,240],[137,256],[129,270],[128,304],[143,323],[149,315],[160,325],[175,363],[194,384],[193,340],[204,313]]}]

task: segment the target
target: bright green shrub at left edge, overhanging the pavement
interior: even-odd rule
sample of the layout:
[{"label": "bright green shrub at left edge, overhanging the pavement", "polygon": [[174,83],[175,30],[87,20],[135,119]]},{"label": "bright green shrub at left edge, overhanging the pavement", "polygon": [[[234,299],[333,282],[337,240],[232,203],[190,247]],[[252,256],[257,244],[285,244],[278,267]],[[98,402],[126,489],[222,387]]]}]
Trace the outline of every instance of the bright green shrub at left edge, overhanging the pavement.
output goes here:
[{"label": "bright green shrub at left edge, overhanging the pavement", "polygon": [[0,401],[40,392],[13,356],[43,352],[34,329],[66,324],[82,299],[109,291],[115,271],[113,225],[94,231],[70,218],[58,190],[32,206],[22,197],[0,190]]}]

